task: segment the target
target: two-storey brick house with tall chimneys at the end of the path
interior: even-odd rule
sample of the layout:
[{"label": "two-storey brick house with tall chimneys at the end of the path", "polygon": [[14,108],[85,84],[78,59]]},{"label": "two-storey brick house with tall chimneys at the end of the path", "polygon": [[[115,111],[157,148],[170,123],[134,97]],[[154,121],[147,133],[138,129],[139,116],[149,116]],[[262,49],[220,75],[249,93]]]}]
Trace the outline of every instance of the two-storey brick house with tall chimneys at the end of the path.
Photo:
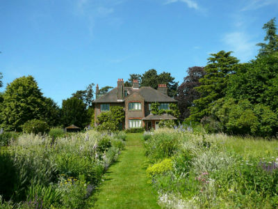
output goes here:
[{"label": "two-storey brick house with tall chimneys at the end of the path", "polygon": [[139,87],[138,80],[133,80],[132,86],[124,86],[124,79],[118,79],[117,87],[104,95],[99,95],[99,86],[96,88],[95,103],[95,126],[97,125],[97,116],[101,112],[109,111],[113,106],[124,108],[125,118],[120,129],[145,127],[158,128],[161,120],[177,120],[169,114],[154,115],[151,114],[151,104],[159,102],[160,109],[170,109],[170,103],[177,102],[167,95],[166,84],[159,84],[158,89],[149,86]]}]

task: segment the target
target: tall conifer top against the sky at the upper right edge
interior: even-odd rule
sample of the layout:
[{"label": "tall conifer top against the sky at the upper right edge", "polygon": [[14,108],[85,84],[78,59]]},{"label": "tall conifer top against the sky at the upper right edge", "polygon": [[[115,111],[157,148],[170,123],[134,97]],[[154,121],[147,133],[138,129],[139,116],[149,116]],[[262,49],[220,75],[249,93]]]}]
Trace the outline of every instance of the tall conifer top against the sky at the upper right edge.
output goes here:
[{"label": "tall conifer top against the sky at the upper right edge", "polygon": [[261,47],[259,49],[259,56],[278,51],[278,36],[276,34],[277,27],[275,22],[276,19],[274,17],[263,25],[263,29],[266,31],[264,40],[268,41],[268,43],[260,42],[257,44],[257,46]]}]

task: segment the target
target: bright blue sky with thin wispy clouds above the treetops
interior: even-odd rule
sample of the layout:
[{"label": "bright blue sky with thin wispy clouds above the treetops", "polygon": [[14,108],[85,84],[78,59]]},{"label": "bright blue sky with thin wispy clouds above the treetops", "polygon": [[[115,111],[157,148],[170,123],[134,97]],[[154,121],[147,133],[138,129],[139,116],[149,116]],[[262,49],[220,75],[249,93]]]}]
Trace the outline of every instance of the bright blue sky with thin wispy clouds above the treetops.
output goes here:
[{"label": "bright blue sky with thin wispy clouds above the treetops", "polygon": [[0,0],[0,17],[0,91],[32,75],[60,105],[88,84],[117,86],[149,69],[181,84],[220,50],[250,61],[278,1]]}]

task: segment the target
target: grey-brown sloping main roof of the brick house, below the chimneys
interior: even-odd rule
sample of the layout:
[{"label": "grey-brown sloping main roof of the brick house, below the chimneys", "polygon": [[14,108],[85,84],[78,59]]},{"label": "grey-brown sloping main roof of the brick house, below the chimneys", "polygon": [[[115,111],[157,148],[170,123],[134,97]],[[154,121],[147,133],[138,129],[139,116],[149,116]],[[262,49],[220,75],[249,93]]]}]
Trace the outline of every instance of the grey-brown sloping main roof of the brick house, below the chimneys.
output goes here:
[{"label": "grey-brown sloping main roof of the brick house, below the chimneys", "polygon": [[[156,89],[149,86],[142,86],[139,89],[133,89],[132,87],[124,87],[124,91],[129,91],[129,95],[133,92],[137,92],[144,98],[145,102],[177,102],[173,98],[157,91]],[[124,102],[123,100],[117,100],[117,87],[106,93],[94,101],[94,103],[119,103]]]}]

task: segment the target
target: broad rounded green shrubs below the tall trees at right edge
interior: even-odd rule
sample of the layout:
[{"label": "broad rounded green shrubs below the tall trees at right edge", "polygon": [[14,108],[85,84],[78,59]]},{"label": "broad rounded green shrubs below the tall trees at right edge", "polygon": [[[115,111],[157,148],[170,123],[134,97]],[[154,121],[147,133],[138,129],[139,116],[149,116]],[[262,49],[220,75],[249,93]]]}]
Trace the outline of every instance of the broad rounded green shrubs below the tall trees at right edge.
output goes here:
[{"label": "broad rounded green shrubs below the tall trees at right edge", "polygon": [[[232,134],[255,134],[270,137],[277,132],[277,115],[263,104],[251,104],[248,100],[220,99],[212,107],[216,121],[205,124],[207,130],[222,130]],[[202,119],[202,121],[204,121]],[[219,121],[219,122],[218,122]]]}]

